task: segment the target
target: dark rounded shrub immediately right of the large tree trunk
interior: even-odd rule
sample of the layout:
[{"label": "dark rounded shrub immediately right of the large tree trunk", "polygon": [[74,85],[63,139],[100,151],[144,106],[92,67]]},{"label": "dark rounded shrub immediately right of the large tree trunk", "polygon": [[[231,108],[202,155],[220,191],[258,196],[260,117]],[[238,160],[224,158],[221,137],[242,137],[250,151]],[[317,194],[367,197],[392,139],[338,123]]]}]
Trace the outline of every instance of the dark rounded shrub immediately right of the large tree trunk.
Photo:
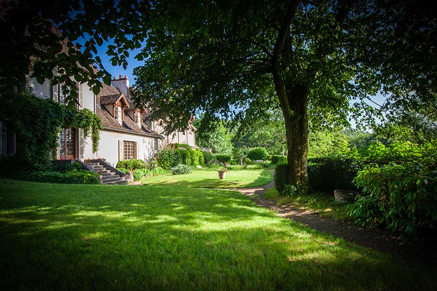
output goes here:
[{"label": "dark rounded shrub immediately right of the large tree trunk", "polygon": [[353,178],[363,168],[363,162],[343,155],[310,159],[309,183],[315,190],[323,192],[335,189],[357,190]]}]

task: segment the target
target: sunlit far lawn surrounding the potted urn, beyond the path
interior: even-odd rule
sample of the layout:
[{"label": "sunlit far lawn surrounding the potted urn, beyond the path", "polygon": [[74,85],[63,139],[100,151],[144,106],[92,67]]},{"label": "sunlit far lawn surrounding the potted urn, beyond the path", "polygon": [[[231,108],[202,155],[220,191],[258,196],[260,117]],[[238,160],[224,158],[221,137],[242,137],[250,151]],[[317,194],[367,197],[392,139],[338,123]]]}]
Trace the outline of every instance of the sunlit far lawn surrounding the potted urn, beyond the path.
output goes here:
[{"label": "sunlit far lawn surrounding the potted urn, beyond the path", "polygon": [[249,165],[247,169],[232,166],[226,173],[224,180],[218,179],[216,169],[194,169],[187,175],[167,174],[158,177],[143,178],[146,185],[167,185],[190,188],[245,188],[268,184],[272,179],[271,171],[274,167],[261,169],[258,165]]}]

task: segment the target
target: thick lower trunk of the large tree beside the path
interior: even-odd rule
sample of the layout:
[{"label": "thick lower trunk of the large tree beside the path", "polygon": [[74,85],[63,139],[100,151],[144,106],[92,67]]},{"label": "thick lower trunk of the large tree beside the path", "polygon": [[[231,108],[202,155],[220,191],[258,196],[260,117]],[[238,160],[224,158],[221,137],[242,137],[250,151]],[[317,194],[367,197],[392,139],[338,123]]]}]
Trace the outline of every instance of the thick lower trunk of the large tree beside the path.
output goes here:
[{"label": "thick lower trunk of the large tree beside the path", "polygon": [[281,102],[281,108],[286,126],[288,179],[297,186],[308,185],[308,88],[290,88],[286,99],[288,102]]}]

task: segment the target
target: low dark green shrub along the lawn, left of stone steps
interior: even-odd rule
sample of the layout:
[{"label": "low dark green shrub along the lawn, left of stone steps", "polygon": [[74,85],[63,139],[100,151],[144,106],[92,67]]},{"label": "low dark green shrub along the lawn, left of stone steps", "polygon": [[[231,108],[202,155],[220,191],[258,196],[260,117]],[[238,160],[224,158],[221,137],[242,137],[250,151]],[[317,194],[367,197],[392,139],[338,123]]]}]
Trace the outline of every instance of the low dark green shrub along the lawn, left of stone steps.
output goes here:
[{"label": "low dark green shrub along the lawn, left of stone steps", "polygon": [[61,184],[99,184],[97,173],[92,171],[78,171],[73,169],[66,173],[56,171],[37,171],[27,175],[30,181],[61,183]]}]

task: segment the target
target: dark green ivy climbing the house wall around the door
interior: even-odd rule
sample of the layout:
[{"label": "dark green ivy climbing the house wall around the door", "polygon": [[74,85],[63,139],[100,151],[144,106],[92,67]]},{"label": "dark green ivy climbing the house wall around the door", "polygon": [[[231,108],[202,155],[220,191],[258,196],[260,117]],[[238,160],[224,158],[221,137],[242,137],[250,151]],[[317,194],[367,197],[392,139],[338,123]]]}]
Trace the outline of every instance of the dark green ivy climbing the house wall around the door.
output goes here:
[{"label": "dark green ivy climbing the house wall around the door", "polygon": [[[1,97],[0,120],[17,135],[17,154],[3,159],[3,162],[7,160],[7,164],[16,165],[16,168],[19,165],[20,171],[46,168],[63,128],[84,129],[84,138],[91,136],[93,152],[97,151],[102,124],[90,110],[77,110],[50,99],[41,99],[30,91]],[[15,170],[4,165],[4,171]]]}]

